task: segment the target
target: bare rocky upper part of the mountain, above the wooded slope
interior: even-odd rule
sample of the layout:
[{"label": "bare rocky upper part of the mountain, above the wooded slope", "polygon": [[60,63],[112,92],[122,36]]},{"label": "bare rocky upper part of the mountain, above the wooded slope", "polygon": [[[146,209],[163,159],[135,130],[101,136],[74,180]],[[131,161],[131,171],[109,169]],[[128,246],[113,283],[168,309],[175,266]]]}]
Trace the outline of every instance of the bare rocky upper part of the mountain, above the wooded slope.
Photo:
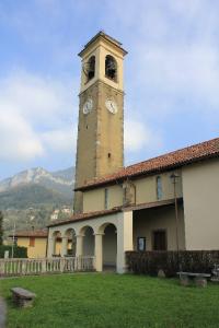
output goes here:
[{"label": "bare rocky upper part of the mountain, above the wooded slope", "polygon": [[30,168],[0,181],[0,209],[71,204],[74,168]]}]

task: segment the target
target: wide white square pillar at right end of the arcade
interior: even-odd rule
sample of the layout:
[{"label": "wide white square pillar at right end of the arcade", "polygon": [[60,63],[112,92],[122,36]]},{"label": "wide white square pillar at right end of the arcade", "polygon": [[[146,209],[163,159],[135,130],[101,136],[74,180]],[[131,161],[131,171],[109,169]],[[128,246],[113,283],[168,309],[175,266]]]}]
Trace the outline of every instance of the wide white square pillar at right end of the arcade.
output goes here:
[{"label": "wide white square pillar at right end of the arcade", "polygon": [[126,250],[132,250],[132,211],[118,214],[116,271],[126,272]]}]

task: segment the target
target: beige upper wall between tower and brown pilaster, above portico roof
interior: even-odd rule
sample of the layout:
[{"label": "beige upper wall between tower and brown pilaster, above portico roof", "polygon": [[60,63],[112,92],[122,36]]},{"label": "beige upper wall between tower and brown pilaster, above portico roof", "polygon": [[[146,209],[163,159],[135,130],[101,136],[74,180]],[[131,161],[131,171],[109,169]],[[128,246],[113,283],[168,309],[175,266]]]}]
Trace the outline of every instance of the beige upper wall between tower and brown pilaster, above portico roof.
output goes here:
[{"label": "beige upper wall between tower and brown pilaster, above portico roof", "polygon": [[[123,204],[123,188],[120,186],[110,186],[108,209]],[[83,194],[83,212],[104,210],[105,188],[99,188]]]}]

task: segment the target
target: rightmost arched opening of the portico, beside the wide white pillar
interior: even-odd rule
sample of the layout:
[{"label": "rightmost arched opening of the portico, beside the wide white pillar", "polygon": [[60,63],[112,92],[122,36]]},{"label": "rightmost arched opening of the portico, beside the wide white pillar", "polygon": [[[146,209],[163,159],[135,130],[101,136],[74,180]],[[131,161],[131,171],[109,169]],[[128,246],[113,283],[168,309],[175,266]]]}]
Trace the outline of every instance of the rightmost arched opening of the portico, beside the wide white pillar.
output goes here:
[{"label": "rightmost arched opening of the portico, beside the wide white pillar", "polygon": [[105,225],[103,235],[103,270],[115,270],[117,259],[117,231],[112,223]]}]

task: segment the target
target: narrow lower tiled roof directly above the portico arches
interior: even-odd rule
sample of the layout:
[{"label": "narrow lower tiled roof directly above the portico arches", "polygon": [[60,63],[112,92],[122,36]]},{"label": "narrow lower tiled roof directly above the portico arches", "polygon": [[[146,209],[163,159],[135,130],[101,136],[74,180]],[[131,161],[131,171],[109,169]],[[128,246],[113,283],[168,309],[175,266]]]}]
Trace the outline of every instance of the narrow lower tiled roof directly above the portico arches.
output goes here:
[{"label": "narrow lower tiled roof directly above the portico arches", "polygon": [[50,223],[47,226],[49,227],[49,226],[56,226],[56,225],[62,225],[62,224],[71,223],[71,222],[82,221],[82,220],[94,219],[94,218],[99,218],[99,216],[106,215],[106,214],[117,213],[117,212],[120,212],[120,211],[122,211],[122,207],[118,207],[118,208],[113,208],[111,210],[103,210],[103,211],[95,211],[95,212],[90,212],[90,213],[73,214],[68,220],[57,220],[57,221],[54,221],[53,223]]}]

